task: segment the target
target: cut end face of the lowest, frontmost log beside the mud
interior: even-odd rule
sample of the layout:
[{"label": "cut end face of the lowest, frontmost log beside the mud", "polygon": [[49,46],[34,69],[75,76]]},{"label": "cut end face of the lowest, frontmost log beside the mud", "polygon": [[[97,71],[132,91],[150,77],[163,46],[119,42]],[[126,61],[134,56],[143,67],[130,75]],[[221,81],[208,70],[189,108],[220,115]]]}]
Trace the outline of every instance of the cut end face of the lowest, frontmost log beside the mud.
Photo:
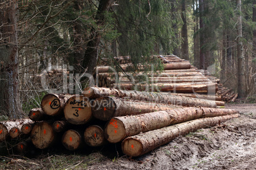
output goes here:
[{"label": "cut end face of the lowest, frontmost log beside the mud", "polygon": [[122,151],[125,155],[138,157],[143,154],[143,145],[134,138],[126,138],[122,141]]}]

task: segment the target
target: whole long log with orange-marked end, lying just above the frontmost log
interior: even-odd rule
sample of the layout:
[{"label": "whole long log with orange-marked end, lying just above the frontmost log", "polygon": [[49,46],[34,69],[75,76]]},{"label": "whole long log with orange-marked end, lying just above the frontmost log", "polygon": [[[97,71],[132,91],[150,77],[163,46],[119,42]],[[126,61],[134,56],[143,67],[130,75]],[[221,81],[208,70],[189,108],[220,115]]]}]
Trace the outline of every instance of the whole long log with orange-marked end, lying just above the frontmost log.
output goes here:
[{"label": "whole long log with orange-marked end, lying just above the frontmost log", "polygon": [[222,108],[184,107],[141,115],[113,117],[111,121],[108,122],[104,133],[110,143],[117,143],[128,136],[164,128],[171,124],[178,124],[203,117],[216,117],[230,114],[239,114],[239,112],[238,110]]}]

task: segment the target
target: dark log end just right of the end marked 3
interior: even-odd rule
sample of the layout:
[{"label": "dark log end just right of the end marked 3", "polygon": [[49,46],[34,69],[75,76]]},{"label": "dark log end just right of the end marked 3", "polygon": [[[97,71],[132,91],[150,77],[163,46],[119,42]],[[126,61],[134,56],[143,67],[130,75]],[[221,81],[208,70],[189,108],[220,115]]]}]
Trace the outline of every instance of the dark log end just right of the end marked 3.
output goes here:
[{"label": "dark log end just right of the end marked 3", "polygon": [[93,103],[92,115],[102,121],[109,121],[113,117],[116,107],[117,105],[111,97],[97,98]]}]

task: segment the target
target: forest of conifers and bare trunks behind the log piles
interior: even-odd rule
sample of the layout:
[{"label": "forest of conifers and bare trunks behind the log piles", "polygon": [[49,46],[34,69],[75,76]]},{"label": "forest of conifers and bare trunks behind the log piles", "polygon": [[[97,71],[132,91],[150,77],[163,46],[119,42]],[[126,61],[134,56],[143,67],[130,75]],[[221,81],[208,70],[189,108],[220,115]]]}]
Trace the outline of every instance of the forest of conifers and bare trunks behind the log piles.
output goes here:
[{"label": "forest of conifers and bare trunks behind the log piles", "polygon": [[[256,0],[0,2],[1,119],[38,107],[48,89],[82,90],[82,75],[103,58],[120,70],[114,56],[150,69],[159,65],[150,56],[177,55],[240,98],[255,95]],[[38,82],[52,69],[66,71],[69,86],[57,77]]]}]

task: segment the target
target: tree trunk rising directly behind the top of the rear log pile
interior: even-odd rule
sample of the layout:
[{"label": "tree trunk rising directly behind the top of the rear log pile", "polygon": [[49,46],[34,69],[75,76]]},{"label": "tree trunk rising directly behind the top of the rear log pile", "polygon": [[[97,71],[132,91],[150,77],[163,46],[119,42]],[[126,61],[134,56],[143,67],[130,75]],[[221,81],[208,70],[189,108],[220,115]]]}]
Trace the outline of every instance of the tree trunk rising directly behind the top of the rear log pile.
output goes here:
[{"label": "tree trunk rising directly behind the top of the rear log pile", "polygon": [[181,58],[185,60],[189,60],[188,54],[188,29],[187,29],[187,18],[186,18],[186,2],[185,0],[181,3],[181,19],[183,21],[183,25],[181,28],[181,37],[183,39],[181,43]]}]

